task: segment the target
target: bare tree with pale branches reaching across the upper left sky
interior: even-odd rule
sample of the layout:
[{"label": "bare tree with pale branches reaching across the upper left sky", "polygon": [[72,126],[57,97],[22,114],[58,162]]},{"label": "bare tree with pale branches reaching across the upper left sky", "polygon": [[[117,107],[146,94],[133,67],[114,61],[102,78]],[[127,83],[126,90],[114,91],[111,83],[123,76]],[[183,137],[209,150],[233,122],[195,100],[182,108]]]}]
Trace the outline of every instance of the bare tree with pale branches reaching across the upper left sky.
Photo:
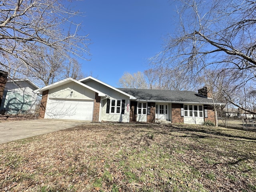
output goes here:
[{"label": "bare tree with pale branches reaching across the upper left sky", "polygon": [[[55,56],[50,57],[52,54],[38,51],[41,48],[54,50],[58,59],[86,59],[88,35],[80,36],[81,24],[73,21],[79,12],[65,8],[58,0],[2,0],[0,7],[1,69],[12,75],[16,70],[33,74],[39,66],[30,62],[32,58],[56,60]],[[47,78],[52,77],[46,77],[46,84],[50,80]]]}]

